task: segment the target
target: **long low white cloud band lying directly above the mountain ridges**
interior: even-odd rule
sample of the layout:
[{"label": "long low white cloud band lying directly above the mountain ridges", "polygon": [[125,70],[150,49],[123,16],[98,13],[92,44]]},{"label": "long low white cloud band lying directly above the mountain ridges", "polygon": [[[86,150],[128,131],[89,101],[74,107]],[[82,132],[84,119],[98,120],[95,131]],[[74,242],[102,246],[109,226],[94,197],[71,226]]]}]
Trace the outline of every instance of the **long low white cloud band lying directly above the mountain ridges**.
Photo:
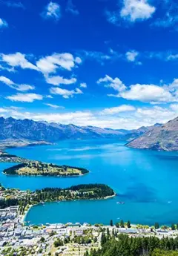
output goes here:
[{"label": "long low white cloud band lying directly above the mountain ridges", "polygon": [[135,111],[125,111],[119,116],[112,114],[101,115],[100,111],[75,111],[63,113],[27,112],[13,108],[0,108],[1,116],[14,118],[28,118],[36,121],[59,122],[62,124],[93,125],[101,128],[134,129],[143,125],[154,125],[156,122],[165,123],[177,116],[177,112],[170,108],[148,107],[136,108]]}]

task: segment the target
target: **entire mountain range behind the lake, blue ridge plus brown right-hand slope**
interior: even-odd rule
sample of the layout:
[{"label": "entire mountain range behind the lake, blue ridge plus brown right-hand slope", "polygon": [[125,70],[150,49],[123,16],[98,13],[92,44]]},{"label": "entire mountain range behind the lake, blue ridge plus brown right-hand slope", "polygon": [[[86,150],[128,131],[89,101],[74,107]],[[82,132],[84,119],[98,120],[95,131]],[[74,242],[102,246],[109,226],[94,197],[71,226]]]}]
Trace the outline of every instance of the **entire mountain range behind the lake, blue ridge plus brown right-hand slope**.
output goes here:
[{"label": "entire mountain range behind the lake, blue ridge plus brown right-hand slope", "polygon": [[93,126],[62,125],[57,122],[37,122],[31,119],[0,117],[0,145],[31,145],[59,140],[116,138],[128,141],[128,147],[153,150],[178,150],[178,117],[165,125],[142,126],[125,130]]}]

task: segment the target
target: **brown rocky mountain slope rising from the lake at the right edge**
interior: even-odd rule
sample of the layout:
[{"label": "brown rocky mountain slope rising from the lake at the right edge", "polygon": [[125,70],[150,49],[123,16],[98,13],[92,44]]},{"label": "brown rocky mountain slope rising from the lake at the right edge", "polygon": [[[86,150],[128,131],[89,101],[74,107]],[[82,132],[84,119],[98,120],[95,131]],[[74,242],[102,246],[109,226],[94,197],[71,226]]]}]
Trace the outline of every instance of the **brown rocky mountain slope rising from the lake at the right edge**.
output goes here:
[{"label": "brown rocky mountain slope rising from the lake at the right edge", "polygon": [[178,151],[178,117],[165,125],[156,124],[154,128],[128,143],[131,148]]}]

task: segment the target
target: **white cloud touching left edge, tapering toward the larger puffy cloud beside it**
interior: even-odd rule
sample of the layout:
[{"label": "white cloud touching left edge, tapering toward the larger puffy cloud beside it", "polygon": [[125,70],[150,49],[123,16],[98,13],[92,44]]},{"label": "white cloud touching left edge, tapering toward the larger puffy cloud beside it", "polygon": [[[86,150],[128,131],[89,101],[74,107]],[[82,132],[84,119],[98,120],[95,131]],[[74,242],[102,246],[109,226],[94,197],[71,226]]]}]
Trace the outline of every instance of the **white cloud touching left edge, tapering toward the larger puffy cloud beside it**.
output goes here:
[{"label": "white cloud touching left edge, tapering toward the larger puffy cloud beside it", "polygon": [[33,70],[39,70],[35,65],[28,62],[25,54],[3,54],[1,53],[1,61],[6,62],[11,67],[21,67],[22,69],[29,68]]}]

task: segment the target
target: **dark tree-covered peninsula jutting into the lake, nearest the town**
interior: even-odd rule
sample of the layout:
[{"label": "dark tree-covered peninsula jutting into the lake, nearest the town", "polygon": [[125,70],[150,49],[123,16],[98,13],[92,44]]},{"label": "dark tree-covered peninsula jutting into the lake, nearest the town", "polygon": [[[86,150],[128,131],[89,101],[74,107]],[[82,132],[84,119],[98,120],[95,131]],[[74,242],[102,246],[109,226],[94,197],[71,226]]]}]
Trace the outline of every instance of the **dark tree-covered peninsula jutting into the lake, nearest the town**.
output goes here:
[{"label": "dark tree-covered peninsula jutting into the lake, nearest the town", "polygon": [[21,191],[16,188],[4,188],[0,184],[0,209],[19,206],[24,214],[28,206],[38,203],[67,200],[100,200],[114,197],[112,188],[104,184],[84,184],[70,188],[43,188],[36,191]]}]

